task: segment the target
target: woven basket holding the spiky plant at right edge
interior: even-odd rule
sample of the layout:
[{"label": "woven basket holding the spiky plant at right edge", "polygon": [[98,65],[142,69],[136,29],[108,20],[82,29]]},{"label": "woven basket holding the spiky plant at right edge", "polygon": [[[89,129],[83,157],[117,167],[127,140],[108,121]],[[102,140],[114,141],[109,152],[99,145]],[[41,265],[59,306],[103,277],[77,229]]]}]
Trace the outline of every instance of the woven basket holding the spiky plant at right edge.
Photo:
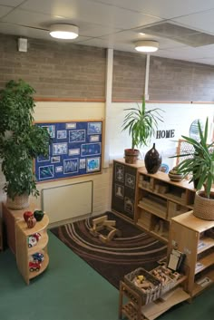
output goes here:
[{"label": "woven basket holding the spiky plant at right edge", "polygon": [[201,195],[203,191],[197,191],[195,196],[193,215],[204,220],[214,220],[214,192],[210,193],[211,199]]}]

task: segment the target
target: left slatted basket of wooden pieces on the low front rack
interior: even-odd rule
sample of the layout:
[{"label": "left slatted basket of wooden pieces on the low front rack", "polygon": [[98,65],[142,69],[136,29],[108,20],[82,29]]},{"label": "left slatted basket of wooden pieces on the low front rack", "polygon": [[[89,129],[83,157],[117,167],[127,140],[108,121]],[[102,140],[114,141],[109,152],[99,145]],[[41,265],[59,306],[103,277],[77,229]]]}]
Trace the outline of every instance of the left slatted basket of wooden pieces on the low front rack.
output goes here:
[{"label": "left slatted basket of wooden pieces on the low front rack", "polygon": [[[140,287],[136,286],[133,282],[136,276],[145,276],[145,278],[151,282],[153,285],[152,288],[145,290],[146,292],[142,291]],[[134,291],[136,291],[142,299],[142,304],[147,305],[160,297],[161,293],[161,284],[158,279],[152,276],[148,271],[139,267],[129,273],[128,275],[124,276],[124,282],[131,287]]]}]

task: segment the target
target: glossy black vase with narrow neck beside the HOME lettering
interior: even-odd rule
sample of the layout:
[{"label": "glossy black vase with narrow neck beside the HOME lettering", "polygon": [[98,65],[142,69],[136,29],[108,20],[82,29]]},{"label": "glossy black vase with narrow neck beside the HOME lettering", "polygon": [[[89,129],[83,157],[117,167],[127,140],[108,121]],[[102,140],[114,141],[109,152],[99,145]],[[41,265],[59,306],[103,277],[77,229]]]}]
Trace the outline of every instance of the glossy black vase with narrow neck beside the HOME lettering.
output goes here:
[{"label": "glossy black vase with narrow neck beside the HOME lettering", "polygon": [[158,150],[155,149],[155,143],[153,143],[151,150],[146,152],[144,162],[148,173],[156,173],[159,170],[162,158]]}]

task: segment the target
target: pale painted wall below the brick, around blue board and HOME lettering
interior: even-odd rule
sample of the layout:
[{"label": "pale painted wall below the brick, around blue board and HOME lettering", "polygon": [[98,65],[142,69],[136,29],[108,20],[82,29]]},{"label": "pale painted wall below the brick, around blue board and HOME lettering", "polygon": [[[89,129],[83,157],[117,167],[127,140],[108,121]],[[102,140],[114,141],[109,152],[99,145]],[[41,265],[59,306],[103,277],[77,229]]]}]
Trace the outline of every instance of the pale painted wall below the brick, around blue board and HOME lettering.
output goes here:
[{"label": "pale painted wall below the brick, around blue board and HOME lettering", "polygon": [[[123,157],[123,150],[131,148],[131,139],[127,132],[122,131],[122,121],[124,119],[125,108],[130,108],[136,103],[112,103],[110,110],[110,159]],[[164,122],[160,122],[159,130],[175,130],[174,141],[170,139],[151,140],[151,145],[147,149],[141,150],[142,159],[147,150],[156,143],[157,150],[163,157],[163,162],[173,166],[173,160],[169,160],[170,155],[175,154],[176,140],[181,134],[189,135],[190,124],[195,119],[206,120],[209,116],[211,122],[214,114],[214,104],[182,104],[182,103],[146,103],[149,109],[159,107],[164,112]],[[34,112],[35,121],[73,121],[73,120],[98,120],[104,118],[104,103],[102,102],[37,102]],[[103,135],[104,139],[104,135]],[[103,141],[104,142],[104,141]],[[104,153],[103,153],[104,154]],[[5,200],[2,188],[5,178],[0,170],[0,200]],[[102,170],[101,174],[95,174],[73,179],[59,179],[57,181],[44,182],[38,184],[38,189],[63,186],[75,182],[93,180],[93,214],[99,214],[111,208],[112,197],[112,166]],[[33,199],[40,207],[41,199]],[[59,208],[60,211],[60,208]]]}]

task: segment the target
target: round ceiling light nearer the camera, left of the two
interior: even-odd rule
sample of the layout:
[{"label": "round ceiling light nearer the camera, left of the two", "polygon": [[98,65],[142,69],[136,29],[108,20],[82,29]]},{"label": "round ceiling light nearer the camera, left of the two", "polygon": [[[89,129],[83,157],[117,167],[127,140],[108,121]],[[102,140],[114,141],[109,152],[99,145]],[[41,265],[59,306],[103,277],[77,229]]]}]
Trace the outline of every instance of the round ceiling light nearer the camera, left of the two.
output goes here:
[{"label": "round ceiling light nearer the camera, left of the two", "polygon": [[75,39],[79,35],[79,28],[73,24],[52,24],[50,34],[57,39]]}]

